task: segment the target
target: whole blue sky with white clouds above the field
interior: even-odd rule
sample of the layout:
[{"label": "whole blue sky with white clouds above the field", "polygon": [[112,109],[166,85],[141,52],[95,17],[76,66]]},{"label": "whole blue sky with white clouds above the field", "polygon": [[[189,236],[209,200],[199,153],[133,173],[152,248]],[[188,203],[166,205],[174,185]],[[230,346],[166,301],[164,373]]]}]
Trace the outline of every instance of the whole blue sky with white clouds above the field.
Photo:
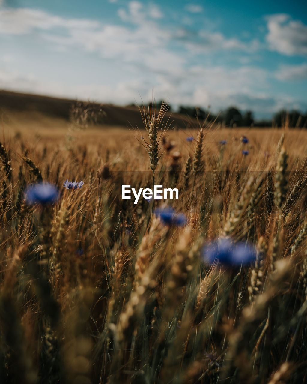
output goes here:
[{"label": "whole blue sky with white clouds above the field", "polygon": [[307,111],[303,1],[0,0],[0,89]]}]

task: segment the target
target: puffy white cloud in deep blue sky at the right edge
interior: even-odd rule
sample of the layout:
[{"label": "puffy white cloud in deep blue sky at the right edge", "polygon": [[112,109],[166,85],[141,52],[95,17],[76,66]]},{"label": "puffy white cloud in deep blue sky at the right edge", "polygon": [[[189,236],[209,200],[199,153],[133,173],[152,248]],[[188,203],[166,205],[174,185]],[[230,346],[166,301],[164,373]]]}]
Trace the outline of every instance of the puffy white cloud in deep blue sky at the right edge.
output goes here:
[{"label": "puffy white cloud in deep blue sky at the right edge", "polygon": [[284,55],[307,55],[307,25],[284,13],[267,16],[266,41]]}]

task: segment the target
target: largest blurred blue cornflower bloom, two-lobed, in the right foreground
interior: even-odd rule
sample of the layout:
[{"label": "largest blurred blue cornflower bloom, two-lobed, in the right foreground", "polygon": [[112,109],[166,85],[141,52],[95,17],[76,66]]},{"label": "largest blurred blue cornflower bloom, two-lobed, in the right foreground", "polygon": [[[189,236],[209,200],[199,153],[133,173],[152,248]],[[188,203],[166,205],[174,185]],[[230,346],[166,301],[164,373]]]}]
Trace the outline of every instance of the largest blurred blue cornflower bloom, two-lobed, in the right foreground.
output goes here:
[{"label": "largest blurred blue cornflower bloom, two-lobed, in the right foreground", "polygon": [[256,249],[250,243],[234,243],[229,237],[218,238],[202,250],[203,260],[213,264],[219,262],[228,266],[241,266],[256,260]]}]

